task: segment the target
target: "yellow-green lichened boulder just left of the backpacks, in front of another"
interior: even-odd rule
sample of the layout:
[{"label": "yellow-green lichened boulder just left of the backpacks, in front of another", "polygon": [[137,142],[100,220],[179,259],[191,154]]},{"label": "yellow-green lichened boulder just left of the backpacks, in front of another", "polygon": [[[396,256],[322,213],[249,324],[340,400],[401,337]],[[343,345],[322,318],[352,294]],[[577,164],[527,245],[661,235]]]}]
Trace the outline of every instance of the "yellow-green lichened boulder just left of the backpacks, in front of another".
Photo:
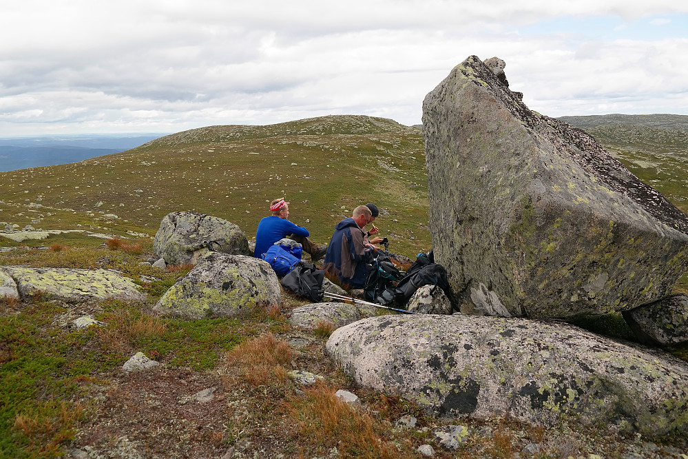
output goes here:
[{"label": "yellow-green lichened boulder just left of the backpacks, in front of another", "polygon": [[162,316],[233,317],[280,305],[280,283],[260,258],[213,253],[179,278],[153,307]]}]

